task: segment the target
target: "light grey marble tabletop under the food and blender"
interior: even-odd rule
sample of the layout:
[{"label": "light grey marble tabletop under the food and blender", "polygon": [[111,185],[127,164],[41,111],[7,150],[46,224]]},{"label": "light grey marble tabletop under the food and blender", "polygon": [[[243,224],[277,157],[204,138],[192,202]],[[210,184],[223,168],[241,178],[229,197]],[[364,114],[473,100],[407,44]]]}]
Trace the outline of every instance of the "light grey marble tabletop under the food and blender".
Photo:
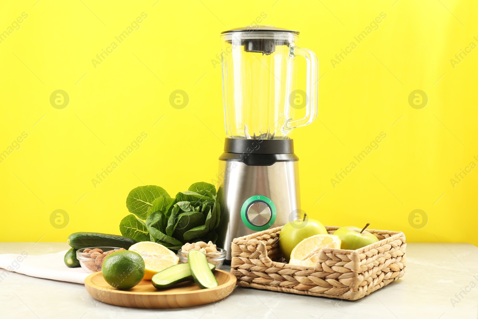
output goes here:
[{"label": "light grey marble tabletop under the food and blender", "polygon": [[[66,243],[59,242],[0,243],[0,253],[26,251],[35,255],[67,248]],[[478,247],[467,243],[409,243],[403,278],[356,301],[236,287],[229,297],[205,306],[123,308],[98,303],[80,284],[8,273],[0,282],[0,318],[477,319],[477,286]]]}]

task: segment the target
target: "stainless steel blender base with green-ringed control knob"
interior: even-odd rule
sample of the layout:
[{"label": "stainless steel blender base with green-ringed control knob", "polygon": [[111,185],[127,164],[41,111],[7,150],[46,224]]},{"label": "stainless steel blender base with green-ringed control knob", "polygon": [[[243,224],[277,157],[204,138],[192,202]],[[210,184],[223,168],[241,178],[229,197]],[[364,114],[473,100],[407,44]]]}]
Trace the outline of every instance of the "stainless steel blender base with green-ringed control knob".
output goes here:
[{"label": "stainless steel blender base with green-ringed control knob", "polygon": [[[260,145],[259,152],[267,152],[271,144],[292,144],[292,140],[239,141]],[[226,142],[225,151],[237,151]],[[243,148],[243,145],[239,146]],[[274,149],[270,148],[272,151]],[[222,180],[217,193],[221,208],[217,247],[226,249],[226,263],[231,260],[234,238],[282,226],[299,217],[298,158],[293,150],[286,152],[291,153],[225,152],[219,158],[219,178]]]}]

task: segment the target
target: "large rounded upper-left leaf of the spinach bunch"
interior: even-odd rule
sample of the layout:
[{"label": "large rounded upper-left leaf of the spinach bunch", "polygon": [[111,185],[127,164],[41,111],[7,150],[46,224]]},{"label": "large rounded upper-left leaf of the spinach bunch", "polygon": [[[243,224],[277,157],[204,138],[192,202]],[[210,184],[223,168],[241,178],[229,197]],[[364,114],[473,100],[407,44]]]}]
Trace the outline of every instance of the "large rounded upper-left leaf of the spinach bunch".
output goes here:
[{"label": "large rounded upper-left leaf of the spinach bunch", "polygon": [[159,186],[140,186],[133,188],[126,198],[126,207],[130,213],[145,220],[152,202],[161,196],[169,197],[168,193]]}]

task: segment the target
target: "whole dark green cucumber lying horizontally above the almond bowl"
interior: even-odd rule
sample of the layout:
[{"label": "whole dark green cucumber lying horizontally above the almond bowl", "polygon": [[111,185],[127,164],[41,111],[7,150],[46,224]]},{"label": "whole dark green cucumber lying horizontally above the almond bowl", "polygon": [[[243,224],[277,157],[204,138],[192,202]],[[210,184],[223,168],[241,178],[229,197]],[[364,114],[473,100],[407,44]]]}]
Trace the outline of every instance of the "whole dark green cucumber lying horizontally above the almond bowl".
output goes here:
[{"label": "whole dark green cucumber lying horizontally above the almond bowl", "polygon": [[87,247],[120,247],[130,248],[134,239],[119,235],[102,234],[99,232],[74,232],[68,236],[68,244],[76,249]]}]

